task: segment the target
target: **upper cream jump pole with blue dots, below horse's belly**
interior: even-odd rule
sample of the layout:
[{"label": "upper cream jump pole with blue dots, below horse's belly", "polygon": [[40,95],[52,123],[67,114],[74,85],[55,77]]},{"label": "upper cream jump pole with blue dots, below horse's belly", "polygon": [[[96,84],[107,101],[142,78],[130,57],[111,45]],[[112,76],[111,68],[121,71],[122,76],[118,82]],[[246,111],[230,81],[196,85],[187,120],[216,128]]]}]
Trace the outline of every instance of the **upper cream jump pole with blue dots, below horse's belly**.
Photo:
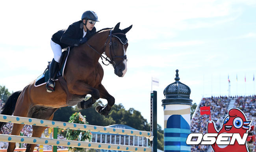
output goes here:
[{"label": "upper cream jump pole with blue dots, below horse's belly", "polygon": [[103,133],[110,133],[110,134],[130,135],[130,136],[139,136],[139,137],[147,137],[147,138],[152,136],[152,132],[147,132],[147,131],[84,125],[84,124],[78,124],[78,123],[66,123],[61,121],[50,121],[50,120],[44,120],[44,119],[17,117],[17,116],[1,115],[1,114],[0,114],[0,121],[6,122],[6,123],[48,126],[48,127],[54,127],[54,128],[84,130],[84,131],[91,131],[91,132],[103,132]]}]

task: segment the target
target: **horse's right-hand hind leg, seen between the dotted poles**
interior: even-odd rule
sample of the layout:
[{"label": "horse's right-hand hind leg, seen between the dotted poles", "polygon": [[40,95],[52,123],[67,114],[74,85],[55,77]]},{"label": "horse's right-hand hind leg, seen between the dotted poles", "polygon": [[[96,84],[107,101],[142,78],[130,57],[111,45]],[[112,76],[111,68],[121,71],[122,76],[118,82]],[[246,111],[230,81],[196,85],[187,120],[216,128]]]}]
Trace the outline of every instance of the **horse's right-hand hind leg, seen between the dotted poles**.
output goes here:
[{"label": "horse's right-hand hind leg, seen between the dotted poles", "polygon": [[[36,107],[34,108],[35,112],[32,114],[32,118],[36,119],[46,119],[52,120],[54,116],[54,112],[58,110],[58,108],[43,108]],[[43,131],[47,128],[45,126],[32,126],[33,134],[32,137],[41,137]],[[36,144],[28,144],[26,148],[26,152],[33,152]]]}]

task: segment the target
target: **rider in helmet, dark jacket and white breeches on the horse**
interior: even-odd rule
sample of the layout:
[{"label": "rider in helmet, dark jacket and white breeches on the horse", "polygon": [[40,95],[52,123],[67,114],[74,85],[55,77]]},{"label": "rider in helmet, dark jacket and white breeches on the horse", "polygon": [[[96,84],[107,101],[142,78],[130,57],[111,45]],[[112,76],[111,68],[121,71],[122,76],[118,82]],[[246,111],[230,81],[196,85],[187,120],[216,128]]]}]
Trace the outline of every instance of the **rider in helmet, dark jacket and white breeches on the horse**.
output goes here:
[{"label": "rider in helmet, dark jacket and white breeches on the horse", "polygon": [[52,35],[51,48],[54,58],[49,67],[49,80],[46,83],[46,91],[52,92],[55,89],[54,75],[57,72],[62,49],[68,46],[77,47],[87,42],[88,38],[96,33],[95,23],[98,16],[94,11],[85,11],[78,22],[74,22],[67,29],[62,29]]}]

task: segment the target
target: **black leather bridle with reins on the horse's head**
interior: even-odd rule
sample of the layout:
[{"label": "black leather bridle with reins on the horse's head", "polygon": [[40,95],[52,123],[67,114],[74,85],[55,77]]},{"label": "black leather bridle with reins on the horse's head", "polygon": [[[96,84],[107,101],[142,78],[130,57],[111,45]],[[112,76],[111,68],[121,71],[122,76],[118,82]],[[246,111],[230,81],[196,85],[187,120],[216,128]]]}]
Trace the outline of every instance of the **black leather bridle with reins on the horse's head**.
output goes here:
[{"label": "black leather bridle with reins on the horse's head", "polygon": [[[127,60],[127,57],[126,57],[125,54],[124,54],[123,56],[115,55],[115,53],[114,53],[114,51],[113,51],[113,46],[112,46],[112,37],[113,37],[114,35],[124,35],[124,36],[126,36],[124,33],[114,33],[114,34],[112,34],[112,29],[110,30],[110,33],[109,33],[109,35],[108,35],[108,38],[107,38],[106,42],[104,43],[104,52],[102,53],[102,54],[106,55],[106,46],[107,46],[108,39],[110,38],[110,41],[109,41],[109,44],[108,44],[108,46],[110,47],[110,58],[107,57],[107,55],[106,55],[106,57],[104,57],[102,54],[98,53],[98,51],[97,51],[96,49],[94,49],[92,46],[90,46],[87,42],[86,42],[86,44],[87,44],[91,49],[93,49],[96,53],[98,53],[98,54],[100,55],[100,58],[101,58],[101,59],[104,58],[104,59],[106,59],[106,61],[109,62],[108,64],[105,64],[105,63],[103,62],[103,59],[102,59],[102,63],[103,63],[104,65],[108,66],[109,64],[111,64],[111,65],[115,68],[115,67],[118,66],[123,60]],[[113,54],[113,57],[112,57],[112,54]],[[115,63],[114,59],[116,59],[116,58],[121,58],[122,60],[121,60],[120,62],[118,62],[118,63]]]}]

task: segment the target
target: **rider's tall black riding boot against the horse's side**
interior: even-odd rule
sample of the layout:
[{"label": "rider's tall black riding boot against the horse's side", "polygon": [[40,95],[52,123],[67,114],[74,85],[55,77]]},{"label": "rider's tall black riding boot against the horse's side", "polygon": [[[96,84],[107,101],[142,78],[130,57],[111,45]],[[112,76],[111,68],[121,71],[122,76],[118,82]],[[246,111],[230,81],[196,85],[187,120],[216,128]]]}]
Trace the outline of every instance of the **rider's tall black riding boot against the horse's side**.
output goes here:
[{"label": "rider's tall black riding boot against the horse's side", "polygon": [[59,67],[59,63],[56,62],[54,59],[52,59],[52,62],[49,67],[49,78],[50,79],[46,83],[46,91],[47,92],[53,92],[55,89],[54,74],[56,73],[58,67]]}]

